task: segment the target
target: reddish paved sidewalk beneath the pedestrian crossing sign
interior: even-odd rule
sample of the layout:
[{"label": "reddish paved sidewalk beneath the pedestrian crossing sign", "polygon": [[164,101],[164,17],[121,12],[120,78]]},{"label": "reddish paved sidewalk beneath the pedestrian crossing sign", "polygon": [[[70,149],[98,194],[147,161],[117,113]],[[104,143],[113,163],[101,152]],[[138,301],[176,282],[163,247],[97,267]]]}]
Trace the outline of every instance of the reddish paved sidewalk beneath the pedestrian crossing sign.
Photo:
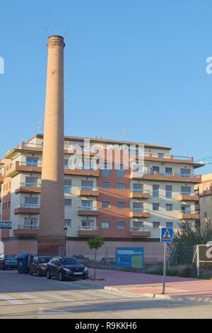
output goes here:
[{"label": "reddish paved sidewalk beneath the pedestrian crossing sign", "polygon": [[[89,272],[90,276],[93,276],[93,270],[89,269]],[[89,279],[78,283],[143,297],[212,303],[212,280],[167,276],[165,295],[163,295],[163,276],[97,269],[96,278],[95,281]]]}]

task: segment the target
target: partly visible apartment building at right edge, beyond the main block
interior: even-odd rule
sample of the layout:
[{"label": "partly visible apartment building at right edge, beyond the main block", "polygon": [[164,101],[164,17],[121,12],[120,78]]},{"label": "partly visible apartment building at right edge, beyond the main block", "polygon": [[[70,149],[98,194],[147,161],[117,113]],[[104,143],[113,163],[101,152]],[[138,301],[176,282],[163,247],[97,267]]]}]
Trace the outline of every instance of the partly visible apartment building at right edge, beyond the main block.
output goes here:
[{"label": "partly visible apartment building at right edge, beyond the main block", "polygon": [[200,222],[204,227],[207,223],[212,224],[212,174],[203,174],[195,189],[199,195]]}]

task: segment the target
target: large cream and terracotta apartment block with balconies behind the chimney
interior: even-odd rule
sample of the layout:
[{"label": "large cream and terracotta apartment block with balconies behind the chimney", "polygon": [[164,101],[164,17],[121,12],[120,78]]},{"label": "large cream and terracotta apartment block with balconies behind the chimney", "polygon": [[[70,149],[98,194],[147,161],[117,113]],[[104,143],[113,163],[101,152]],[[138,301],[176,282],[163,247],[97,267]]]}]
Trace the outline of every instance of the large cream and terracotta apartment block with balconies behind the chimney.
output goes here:
[{"label": "large cream and terracotta apartment block with balconies behind the chimney", "polygon": [[[90,138],[92,151],[84,149],[84,137],[64,137],[64,204],[67,247],[85,247],[90,237],[102,235],[110,248],[145,246],[146,256],[157,259],[163,255],[159,241],[160,227],[173,227],[179,222],[199,223],[196,203],[199,196],[194,185],[201,176],[194,169],[202,164],[193,157],[178,157],[170,147],[142,144],[143,174],[124,168],[101,169],[90,163],[108,145],[141,145]],[[11,220],[12,230],[2,230],[6,252],[37,252],[42,171],[42,135],[6,152],[0,164],[1,220]],[[83,151],[83,163],[73,168],[70,158],[77,156],[75,145]],[[137,147],[137,146],[136,146]],[[134,150],[134,162],[138,158]],[[73,161],[72,161],[73,162]],[[51,163],[51,161],[49,161]]]}]

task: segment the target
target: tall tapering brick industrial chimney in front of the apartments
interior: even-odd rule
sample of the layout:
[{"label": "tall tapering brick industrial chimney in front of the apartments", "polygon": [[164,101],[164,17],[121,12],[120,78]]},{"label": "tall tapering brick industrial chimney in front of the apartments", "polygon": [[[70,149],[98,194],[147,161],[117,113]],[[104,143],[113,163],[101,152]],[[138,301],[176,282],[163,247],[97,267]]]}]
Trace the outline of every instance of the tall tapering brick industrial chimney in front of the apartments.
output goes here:
[{"label": "tall tapering brick industrial chimney in front of the apartments", "polygon": [[49,37],[37,254],[64,246],[64,38]]}]

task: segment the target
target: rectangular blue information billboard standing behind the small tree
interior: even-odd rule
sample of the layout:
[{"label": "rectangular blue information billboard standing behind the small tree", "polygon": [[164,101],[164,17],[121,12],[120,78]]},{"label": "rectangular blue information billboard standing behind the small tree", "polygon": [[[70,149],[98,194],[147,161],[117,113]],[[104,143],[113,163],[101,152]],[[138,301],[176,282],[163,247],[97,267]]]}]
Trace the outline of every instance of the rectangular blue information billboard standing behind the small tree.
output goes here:
[{"label": "rectangular blue information billboard standing behind the small tree", "polygon": [[117,247],[116,266],[144,269],[144,247]]}]

